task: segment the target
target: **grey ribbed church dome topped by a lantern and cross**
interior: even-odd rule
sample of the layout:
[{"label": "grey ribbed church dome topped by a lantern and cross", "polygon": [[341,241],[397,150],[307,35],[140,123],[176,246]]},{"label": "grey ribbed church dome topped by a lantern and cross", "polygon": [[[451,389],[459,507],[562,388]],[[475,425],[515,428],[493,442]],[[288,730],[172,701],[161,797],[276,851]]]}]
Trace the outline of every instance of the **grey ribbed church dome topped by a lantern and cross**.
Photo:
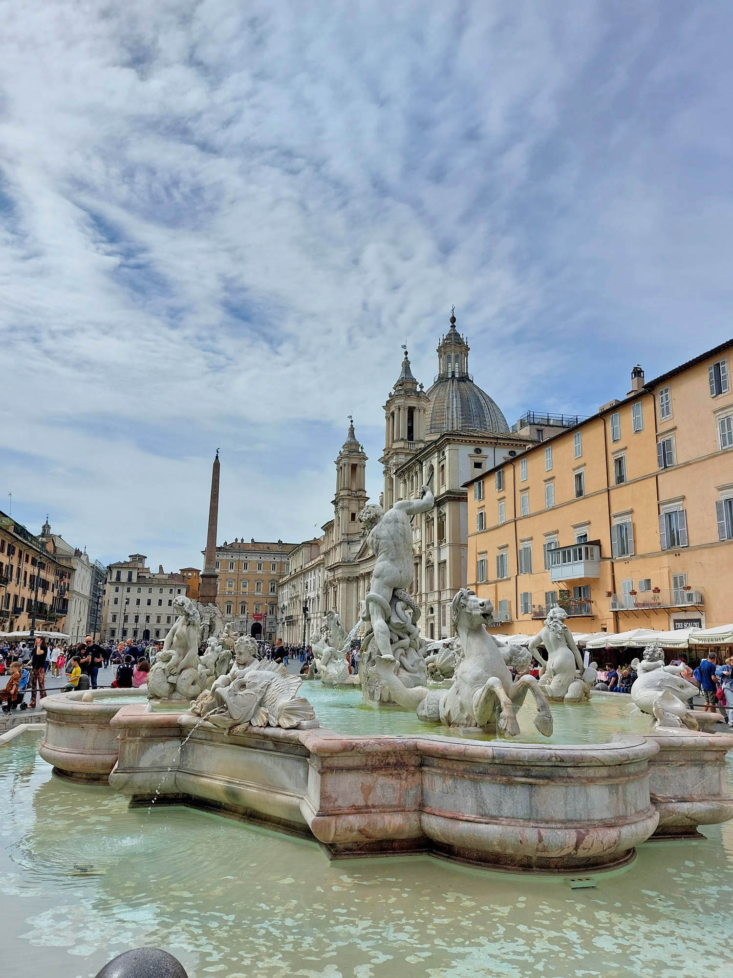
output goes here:
[{"label": "grey ribbed church dome topped by a lantern and cross", "polygon": [[427,391],[430,401],[428,435],[446,431],[486,431],[508,434],[509,425],[495,401],[473,382],[468,373],[468,351],[465,338],[451,328],[438,346],[440,373]]}]

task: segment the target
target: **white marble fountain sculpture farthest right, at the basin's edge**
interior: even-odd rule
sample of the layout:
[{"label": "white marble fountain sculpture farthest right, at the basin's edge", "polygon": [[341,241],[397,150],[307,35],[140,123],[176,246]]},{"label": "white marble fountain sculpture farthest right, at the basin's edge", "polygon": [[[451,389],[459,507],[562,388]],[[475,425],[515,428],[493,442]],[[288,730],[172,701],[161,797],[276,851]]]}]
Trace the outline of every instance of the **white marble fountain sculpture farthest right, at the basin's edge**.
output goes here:
[{"label": "white marble fountain sculpture farthest right, at the basin's edge", "polygon": [[698,688],[682,678],[685,666],[666,666],[665,653],[659,645],[647,645],[641,661],[631,662],[636,679],[631,685],[631,700],[642,713],[654,717],[653,730],[661,727],[705,731],[713,724],[724,723],[720,714],[691,710],[687,703]]}]

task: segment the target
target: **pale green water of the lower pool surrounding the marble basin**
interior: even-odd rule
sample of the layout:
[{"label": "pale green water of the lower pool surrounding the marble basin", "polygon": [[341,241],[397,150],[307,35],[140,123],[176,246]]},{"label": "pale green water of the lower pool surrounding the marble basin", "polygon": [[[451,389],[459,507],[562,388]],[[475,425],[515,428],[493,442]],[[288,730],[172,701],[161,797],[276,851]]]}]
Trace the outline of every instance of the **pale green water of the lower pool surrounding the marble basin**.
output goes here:
[{"label": "pale green water of the lower pool surrounding the marble basin", "polygon": [[128,810],[0,747],[0,973],[87,978],[157,945],[191,978],[733,973],[733,827],[565,877],[428,857],[328,863],[315,843],[185,808]]}]

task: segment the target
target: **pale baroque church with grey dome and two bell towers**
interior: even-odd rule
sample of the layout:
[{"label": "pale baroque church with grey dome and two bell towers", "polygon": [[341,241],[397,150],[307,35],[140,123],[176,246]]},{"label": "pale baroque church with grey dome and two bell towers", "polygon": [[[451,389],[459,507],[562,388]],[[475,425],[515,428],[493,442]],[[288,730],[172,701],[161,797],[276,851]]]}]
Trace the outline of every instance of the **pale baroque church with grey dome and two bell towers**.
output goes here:
[{"label": "pale baroque church with grey dome and two bell towers", "polygon": [[[474,382],[468,370],[469,350],[452,315],[450,329],[438,344],[438,375],[432,385],[425,390],[413,377],[406,351],[400,375],[384,404],[381,505],[389,510],[399,500],[417,498],[423,485],[430,486],[435,497],[433,510],[412,521],[409,590],[420,608],[420,627],[428,639],[452,634],[451,601],[466,585],[469,528],[463,484],[533,443],[530,437],[510,430],[495,401]],[[321,613],[303,622],[300,599],[307,597],[303,590],[307,584],[304,580],[300,587],[292,575],[286,590],[292,600],[280,608],[287,619],[281,633],[287,643],[302,641],[304,624],[307,641],[315,638],[327,608],[337,610],[350,630],[367,596],[374,557],[358,519],[367,503],[367,455],[353,422],[335,466],[333,518],[323,525],[319,554],[309,565],[310,571],[316,563],[320,565],[322,590],[313,604]]]}]

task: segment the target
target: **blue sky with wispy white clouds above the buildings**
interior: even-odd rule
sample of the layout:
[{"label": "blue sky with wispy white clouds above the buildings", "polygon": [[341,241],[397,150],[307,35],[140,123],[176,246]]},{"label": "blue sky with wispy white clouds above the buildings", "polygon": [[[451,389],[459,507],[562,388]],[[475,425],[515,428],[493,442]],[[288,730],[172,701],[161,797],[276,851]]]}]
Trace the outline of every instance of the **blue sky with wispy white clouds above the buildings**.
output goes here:
[{"label": "blue sky with wispy white clouds above the buildings", "polygon": [[452,303],[509,422],[733,335],[733,6],[0,2],[0,509],[104,561],[375,497]]}]

